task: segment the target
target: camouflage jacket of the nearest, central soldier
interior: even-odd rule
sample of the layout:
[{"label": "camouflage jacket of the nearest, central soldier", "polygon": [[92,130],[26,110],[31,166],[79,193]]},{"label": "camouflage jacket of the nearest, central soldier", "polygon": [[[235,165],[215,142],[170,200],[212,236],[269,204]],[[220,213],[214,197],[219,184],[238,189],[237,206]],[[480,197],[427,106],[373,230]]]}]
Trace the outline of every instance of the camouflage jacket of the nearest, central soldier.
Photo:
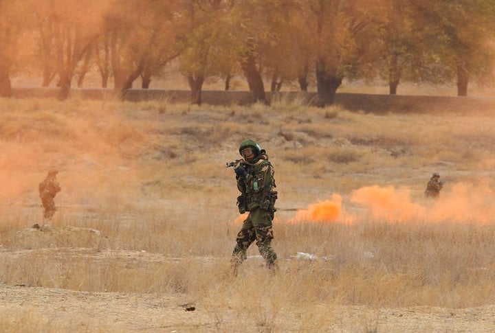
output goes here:
[{"label": "camouflage jacket of the nearest, central soldier", "polygon": [[272,190],[275,185],[274,168],[268,161],[267,155],[261,155],[258,161],[248,163],[243,161],[245,170],[248,175],[245,178],[237,178],[237,188],[245,197],[247,211],[252,211],[257,207],[269,209],[271,202]]}]

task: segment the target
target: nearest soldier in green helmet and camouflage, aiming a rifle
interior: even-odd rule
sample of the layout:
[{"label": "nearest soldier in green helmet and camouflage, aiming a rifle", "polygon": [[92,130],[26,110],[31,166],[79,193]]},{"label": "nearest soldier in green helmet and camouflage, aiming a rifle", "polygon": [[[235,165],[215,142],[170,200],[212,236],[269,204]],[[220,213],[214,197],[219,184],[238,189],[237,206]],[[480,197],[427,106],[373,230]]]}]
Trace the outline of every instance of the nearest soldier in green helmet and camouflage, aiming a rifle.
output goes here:
[{"label": "nearest soldier in green helmet and camouflage, aiming a rifle", "polygon": [[246,259],[246,251],[254,240],[268,268],[275,268],[276,261],[276,253],[270,245],[274,238],[272,220],[277,197],[277,192],[273,191],[276,187],[274,168],[268,161],[265,150],[261,150],[259,144],[252,139],[242,141],[239,153],[243,159],[239,160],[234,168],[237,188],[241,192],[241,196],[237,198],[237,205],[239,213],[250,213],[237,234],[237,244],[232,253],[234,275]]}]

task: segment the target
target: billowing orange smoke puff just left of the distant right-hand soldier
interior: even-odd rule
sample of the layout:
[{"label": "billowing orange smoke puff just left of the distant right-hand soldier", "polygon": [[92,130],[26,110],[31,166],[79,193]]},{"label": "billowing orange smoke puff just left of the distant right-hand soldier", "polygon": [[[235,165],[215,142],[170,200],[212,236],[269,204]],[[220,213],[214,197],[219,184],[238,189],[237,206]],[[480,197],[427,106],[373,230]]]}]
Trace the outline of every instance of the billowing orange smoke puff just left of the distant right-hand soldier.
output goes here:
[{"label": "billowing orange smoke puff just left of the distant right-hand soldier", "polygon": [[407,187],[401,187],[399,190],[395,190],[393,186],[362,187],[353,192],[351,202],[369,207],[373,218],[388,221],[404,221],[424,212],[421,205],[412,203]]}]

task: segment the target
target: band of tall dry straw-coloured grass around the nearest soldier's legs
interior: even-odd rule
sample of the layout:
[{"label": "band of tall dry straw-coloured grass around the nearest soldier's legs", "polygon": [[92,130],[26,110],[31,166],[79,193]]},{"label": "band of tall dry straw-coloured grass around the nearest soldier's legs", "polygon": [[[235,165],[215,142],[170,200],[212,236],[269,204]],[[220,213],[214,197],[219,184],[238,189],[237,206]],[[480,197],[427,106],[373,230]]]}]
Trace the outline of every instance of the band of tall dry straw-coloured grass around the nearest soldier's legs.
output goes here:
[{"label": "band of tall dry straw-coloured grass around the nearest soldier's legs", "polygon": [[[495,251],[495,229],[491,226],[458,222],[432,225],[364,221],[351,226],[278,222],[274,227],[274,249],[281,258],[281,273],[270,277],[270,282],[263,263],[252,260],[245,263],[239,279],[228,275],[228,255],[240,225],[223,224],[222,230],[218,226],[222,219],[210,220],[211,210],[206,207],[199,206],[204,215],[190,218],[180,218],[184,213],[177,207],[175,213],[171,211],[173,214],[167,216],[146,216],[143,212],[130,216],[120,212],[111,214],[118,214],[118,220],[81,220],[81,225],[99,228],[106,237],[104,242],[60,233],[52,238],[54,249],[76,245],[109,251],[101,262],[95,262],[98,252],[91,250],[89,256],[63,255],[51,259],[49,253],[47,257],[43,252],[26,253],[15,261],[1,262],[1,281],[74,290],[186,292],[201,299],[217,292],[216,288],[211,289],[216,284],[224,292],[232,289],[228,297],[234,303],[232,306],[242,303],[244,293],[255,295],[267,288],[264,294],[271,295],[268,299],[278,299],[270,311],[305,302],[455,308],[494,301],[491,291],[495,262],[490,253]],[[12,220],[9,228],[14,227],[16,222]],[[37,246],[47,245],[41,238],[33,238],[30,247]],[[120,250],[112,249],[126,249],[131,251],[129,254],[137,251],[136,261],[129,262],[119,254]],[[140,251],[151,254],[140,255]],[[296,252],[312,253],[319,259],[296,260]],[[258,255],[254,244],[249,254]],[[239,282],[243,284],[239,286]],[[276,322],[276,318],[272,321]]]}]

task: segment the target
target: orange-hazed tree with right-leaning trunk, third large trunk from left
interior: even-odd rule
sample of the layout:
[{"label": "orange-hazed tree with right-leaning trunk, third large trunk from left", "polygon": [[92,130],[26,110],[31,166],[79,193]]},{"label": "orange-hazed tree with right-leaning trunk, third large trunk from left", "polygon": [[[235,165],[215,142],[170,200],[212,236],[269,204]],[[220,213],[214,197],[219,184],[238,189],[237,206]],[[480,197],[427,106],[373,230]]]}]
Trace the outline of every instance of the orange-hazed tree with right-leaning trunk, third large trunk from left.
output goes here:
[{"label": "orange-hazed tree with right-leaning trunk, third large trunk from left", "polygon": [[156,71],[175,58],[170,45],[180,29],[180,4],[173,0],[113,0],[113,10],[105,16],[105,32],[113,86],[121,97],[146,70]]}]

